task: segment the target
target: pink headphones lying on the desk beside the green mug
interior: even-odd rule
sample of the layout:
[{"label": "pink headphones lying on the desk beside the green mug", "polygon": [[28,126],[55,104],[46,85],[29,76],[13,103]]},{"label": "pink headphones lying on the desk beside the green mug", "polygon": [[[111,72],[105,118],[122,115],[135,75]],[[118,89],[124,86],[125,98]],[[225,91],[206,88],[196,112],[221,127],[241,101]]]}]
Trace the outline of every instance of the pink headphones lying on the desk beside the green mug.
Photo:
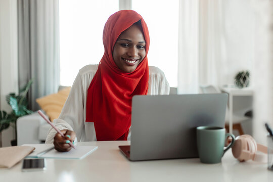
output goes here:
[{"label": "pink headphones lying on the desk beside the green mug", "polygon": [[[260,151],[261,153],[257,153]],[[252,136],[243,134],[237,136],[232,146],[232,154],[240,162],[252,159],[258,162],[267,162],[267,147],[257,144]]]}]

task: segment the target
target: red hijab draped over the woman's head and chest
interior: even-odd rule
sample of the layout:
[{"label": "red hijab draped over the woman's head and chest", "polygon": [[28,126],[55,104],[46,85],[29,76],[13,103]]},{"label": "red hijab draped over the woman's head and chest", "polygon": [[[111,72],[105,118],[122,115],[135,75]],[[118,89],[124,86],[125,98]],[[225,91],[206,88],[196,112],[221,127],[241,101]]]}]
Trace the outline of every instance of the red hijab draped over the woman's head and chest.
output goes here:
[{"label": "red hijab draped over the woman's head and chest", "polygon": [[[139,20],[146,41],[146,56],[133,72],[126,73],[116,66],[112,51],[119,35]],[[148,93],[148,27],[135,11],[116,12],[104,26],[103,44],[103,58],[87,90],[86,122],[94,122],[97,141],[127,140],[132,97]]]}]

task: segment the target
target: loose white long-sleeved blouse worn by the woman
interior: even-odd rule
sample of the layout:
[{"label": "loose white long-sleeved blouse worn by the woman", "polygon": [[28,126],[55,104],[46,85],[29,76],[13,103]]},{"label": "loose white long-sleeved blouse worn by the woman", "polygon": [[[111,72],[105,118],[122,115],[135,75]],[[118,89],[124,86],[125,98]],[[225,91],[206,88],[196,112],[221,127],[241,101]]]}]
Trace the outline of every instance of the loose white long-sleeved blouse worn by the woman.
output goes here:
[{"label": "loose white long-sleeved blouse worn by the woman", "polygon": [[[85,122],[87,89],[97,70],[98,65],[87,65],[79,70],[59,118],[54,119],[54,125],[59,130],[73,130],[79,142],[97,141],[94,122]],[[149,66],[148,95],[169,95],[169,92],[164,73],[157,67]],[[56,133],[50,128],[45,143],[53,143]]]}]

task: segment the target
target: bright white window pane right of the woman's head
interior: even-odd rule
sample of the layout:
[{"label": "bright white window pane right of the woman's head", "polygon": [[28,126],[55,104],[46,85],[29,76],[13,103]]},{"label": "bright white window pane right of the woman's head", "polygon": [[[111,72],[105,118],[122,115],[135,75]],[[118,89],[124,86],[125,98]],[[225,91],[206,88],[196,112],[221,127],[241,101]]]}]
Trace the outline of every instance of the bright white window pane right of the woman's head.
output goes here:
[{"label": "bright white window pane right of the woman's head", "polygon": [[160,68],[172,87],[177,86],[178,7],[178,0],[132,0],[132,10],[144,18],[149,29],[149,65]]}]

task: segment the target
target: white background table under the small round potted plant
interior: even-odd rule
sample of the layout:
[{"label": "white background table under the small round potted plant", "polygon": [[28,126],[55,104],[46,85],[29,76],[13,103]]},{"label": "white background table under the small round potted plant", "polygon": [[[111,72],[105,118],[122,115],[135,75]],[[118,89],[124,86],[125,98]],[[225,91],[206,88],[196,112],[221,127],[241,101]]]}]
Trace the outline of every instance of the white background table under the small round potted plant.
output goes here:
[{"label": "white background table under the small round potted plant", "polygon": [[253,96],[253,90],[249,87],[246,88],[234,88],[234,87],[221,87],[221,92],[229,94],[229,129],[232,133],[233,129],[233,97],[234,96]]}]

